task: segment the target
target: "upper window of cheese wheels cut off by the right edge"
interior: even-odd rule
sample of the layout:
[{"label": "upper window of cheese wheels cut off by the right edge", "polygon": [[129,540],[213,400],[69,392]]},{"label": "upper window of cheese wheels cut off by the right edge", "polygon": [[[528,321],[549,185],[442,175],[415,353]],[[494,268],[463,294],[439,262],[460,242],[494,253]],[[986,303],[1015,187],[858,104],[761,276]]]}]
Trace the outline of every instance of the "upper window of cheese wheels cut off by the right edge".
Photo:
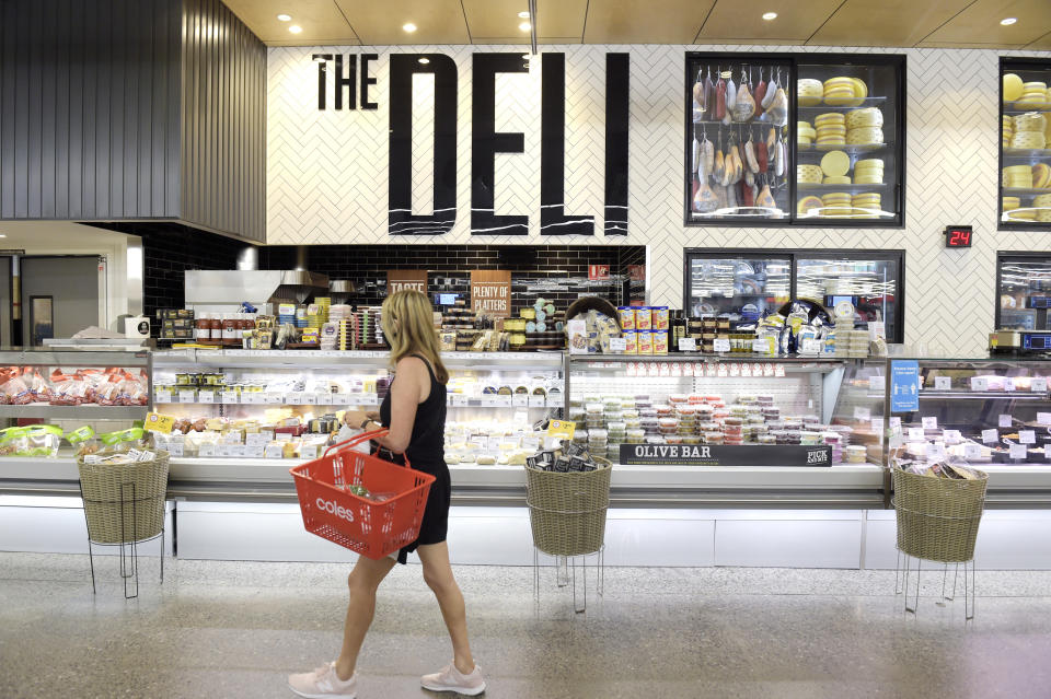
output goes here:
[{"label": "upper window of cheese wheels cut off by the right edge", "polygon": [[1000,59],[1000,230],[1051,230],[1051,60]]}]

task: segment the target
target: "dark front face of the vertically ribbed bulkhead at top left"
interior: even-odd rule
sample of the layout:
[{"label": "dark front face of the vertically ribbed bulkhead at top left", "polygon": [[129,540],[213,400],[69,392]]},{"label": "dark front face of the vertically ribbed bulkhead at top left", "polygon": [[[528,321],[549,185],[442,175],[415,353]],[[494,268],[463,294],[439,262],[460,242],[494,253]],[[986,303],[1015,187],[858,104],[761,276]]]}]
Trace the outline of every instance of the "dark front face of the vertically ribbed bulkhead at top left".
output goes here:
[{"label": "dark front face of the vertically ribbed bulkhead at top left", "polygon": [[0,1],[0,218],[177,218],[181,12]]}]

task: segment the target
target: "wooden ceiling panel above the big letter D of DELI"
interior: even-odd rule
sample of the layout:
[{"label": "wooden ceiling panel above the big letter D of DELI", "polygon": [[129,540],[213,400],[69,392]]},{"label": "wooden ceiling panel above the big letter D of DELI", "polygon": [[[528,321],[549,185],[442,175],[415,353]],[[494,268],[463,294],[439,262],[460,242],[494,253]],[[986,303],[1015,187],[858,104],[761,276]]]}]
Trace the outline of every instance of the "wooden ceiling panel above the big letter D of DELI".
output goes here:
[{"label": "wooden ceiling panel above the big letter D of DELI", "polygon": [[[362,44],[470,44],[460,0],[335,0]],[[412,22],[412,34],[402,25]]]}]

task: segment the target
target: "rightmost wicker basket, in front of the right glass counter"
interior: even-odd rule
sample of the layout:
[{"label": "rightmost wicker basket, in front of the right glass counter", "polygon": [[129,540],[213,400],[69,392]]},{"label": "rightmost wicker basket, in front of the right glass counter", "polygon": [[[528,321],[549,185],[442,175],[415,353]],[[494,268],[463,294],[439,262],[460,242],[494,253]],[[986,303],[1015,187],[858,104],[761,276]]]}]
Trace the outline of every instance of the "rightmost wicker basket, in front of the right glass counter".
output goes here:
[{"label": "rightmost wicker basket, in front of the right glass counter", "polygon": [[903,554],[943,563],[961,563],[974,558],[989,476],[971,470],[980,478],[951,480],[891,469],[898,548]]}]

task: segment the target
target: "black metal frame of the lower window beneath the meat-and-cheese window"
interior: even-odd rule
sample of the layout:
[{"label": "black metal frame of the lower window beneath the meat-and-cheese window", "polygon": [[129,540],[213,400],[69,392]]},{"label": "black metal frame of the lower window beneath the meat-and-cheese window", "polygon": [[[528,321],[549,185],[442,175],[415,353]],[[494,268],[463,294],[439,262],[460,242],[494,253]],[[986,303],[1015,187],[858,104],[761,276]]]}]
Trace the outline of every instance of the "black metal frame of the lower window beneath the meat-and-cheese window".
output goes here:
[{"label": "black metal frame of the lower window beneath the meat-and-cheese window", "polygon": [[[1051,253],[1048,253],[1051,257]],[[894,303],[897,313],[894,314],[893,342],[903,342],[905,337],[905,251],[903,249],[851,249],[851,248],[822,248],[822,247],[796,247],[785,249],[773,249],[767,247],[688,247],[683,249],[682,259],[682,307],[690,307],[690,271],[691,263],[694,258],[698,259],[718,259],[724,257],[753,257],[759,259],[773,259],[778,257],[788,258],[789,275],[788,290],[793,299],[796,298],[796,261],[799,258],[806,259],[834,259],[845,257],[847,259],[859,260],[887,260],[898,264],[898,289],[894,293]],[[997,268],[998,275],[998,268]],[[997,276],[997,283],[1000,278]],[[890,328],[888,328],[890,330]],[[889,335],[889,333],[888,333]]]}]

